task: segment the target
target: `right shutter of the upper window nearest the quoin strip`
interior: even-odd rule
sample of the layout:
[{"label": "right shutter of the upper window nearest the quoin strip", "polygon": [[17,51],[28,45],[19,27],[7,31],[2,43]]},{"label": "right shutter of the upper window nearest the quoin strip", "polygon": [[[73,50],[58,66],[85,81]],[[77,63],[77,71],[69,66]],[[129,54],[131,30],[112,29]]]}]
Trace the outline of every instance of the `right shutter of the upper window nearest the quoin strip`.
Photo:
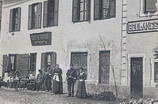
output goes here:
[{"label": "right shutter of the upper window nearest the quoin strip", "polygon": [[110,0],[110,8],[109,8],[109,15],[110,17],[116,16],[116,0]]}]

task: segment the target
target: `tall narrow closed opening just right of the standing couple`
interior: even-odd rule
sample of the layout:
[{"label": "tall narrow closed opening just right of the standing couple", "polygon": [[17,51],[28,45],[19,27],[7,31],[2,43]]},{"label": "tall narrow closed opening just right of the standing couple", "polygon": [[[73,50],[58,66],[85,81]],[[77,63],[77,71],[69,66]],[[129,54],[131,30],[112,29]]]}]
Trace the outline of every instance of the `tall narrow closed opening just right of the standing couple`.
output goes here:
[{"label": "tall narrow closed opening just right of the standing couple", "polygon": [[110,51],[99,52],[99,83],[109,84],[110,77]]}]

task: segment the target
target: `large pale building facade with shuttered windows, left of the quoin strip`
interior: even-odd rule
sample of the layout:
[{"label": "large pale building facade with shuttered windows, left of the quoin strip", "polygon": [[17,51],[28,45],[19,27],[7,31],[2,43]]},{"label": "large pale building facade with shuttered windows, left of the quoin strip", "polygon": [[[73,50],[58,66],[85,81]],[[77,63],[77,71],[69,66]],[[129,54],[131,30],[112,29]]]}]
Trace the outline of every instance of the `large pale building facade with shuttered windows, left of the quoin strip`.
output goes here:
[{"label": "large pale building facade with shuttered windows, left of the quoin strip", "polygon": [[[87,70],[89,93],[121,85],[121,6],[116,0],[19,0],[3,3],[2,73],[38,74],[59,64]],[[117,24],[117,25],[116,25]],[[64,81],[65,82],[65,81]]]}]

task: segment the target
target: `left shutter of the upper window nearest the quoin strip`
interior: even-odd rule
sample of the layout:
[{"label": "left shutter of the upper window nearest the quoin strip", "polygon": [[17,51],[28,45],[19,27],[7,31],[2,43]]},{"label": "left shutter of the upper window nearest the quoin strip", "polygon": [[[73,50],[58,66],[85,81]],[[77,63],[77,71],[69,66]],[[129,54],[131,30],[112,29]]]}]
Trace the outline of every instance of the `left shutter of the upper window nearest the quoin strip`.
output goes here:
[{"label": "left shutter of the upper window nearest the quoin strip", "polygon": [[100,19],[101,0],[94,0],[94,20]]}]

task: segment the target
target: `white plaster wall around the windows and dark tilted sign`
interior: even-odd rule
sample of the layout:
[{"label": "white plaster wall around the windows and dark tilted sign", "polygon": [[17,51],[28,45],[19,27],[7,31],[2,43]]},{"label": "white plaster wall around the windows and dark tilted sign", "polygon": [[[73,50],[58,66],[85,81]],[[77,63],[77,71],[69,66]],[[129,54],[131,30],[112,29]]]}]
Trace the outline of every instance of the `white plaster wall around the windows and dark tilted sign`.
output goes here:
[{"label": "white plaster wall around the windows and dark tilted sign", "polygon": [[[57,63],[63,68],[63,75],[70,65],[70,53],[73,51],[88,52],[88,80],[98,83],[99,51],[111,50],[111,64],[115,68],[117,83],[120,83],[120,42],[121,42],[121,0],[116,0],[116,18],[93,20],[93,2],[91,0],[91,21],[72,22],[72,0],[59,1],[59,26],[28,31],[28,5],[44,0],[29,0],[18,5],[4,5],[2,19],[1,47],[3,54],[37,52],[37,69],[41,67],[41,53],[57,52]],[[21,7],[21,31],[9,33],[9,11]],[[43,20],[43,19],[42,19]],[[52,45],[31,46],[30,34],[52,32]],[[110,83],[113,73],[110,70]]]}]

